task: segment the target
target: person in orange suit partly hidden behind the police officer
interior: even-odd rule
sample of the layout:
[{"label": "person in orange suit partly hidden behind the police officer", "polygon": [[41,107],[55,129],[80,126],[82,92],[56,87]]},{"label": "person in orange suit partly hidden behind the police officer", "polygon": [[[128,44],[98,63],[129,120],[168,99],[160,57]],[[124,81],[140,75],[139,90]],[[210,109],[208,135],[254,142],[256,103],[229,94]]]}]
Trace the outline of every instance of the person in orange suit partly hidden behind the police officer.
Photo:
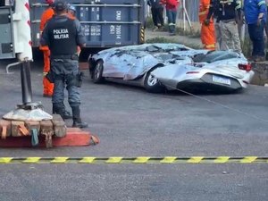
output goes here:
[{"label": "person in orange suit partly hidden behind the police officer", "polygon": [[[49,21],[54,15],[54,0],[46,0],[46,4],[48,4],[48,8],[42,14],[40,21],[39,29],[41,34],[46,26],[46,22]],[[43,96],[51,97],[53,95],[54,84],[50,83],[49,80],[46,79],[46,74],[50,70],[50,50],[48,49],[48,46],[39,46],[39,49],[42,50],[44,54]]]}]

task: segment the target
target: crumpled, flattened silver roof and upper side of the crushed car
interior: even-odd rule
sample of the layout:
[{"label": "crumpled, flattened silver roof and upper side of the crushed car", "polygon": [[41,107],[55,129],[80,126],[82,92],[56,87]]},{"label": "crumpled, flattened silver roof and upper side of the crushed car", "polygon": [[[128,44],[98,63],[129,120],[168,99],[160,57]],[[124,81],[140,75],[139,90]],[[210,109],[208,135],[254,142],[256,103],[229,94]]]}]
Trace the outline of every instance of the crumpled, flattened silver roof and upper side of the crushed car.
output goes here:
[{"label": "crumpled, flattened silver roof and upper side of the crushed car", "polygon": [[234,51],[196,50],[173,43],[154,43],[138,46],[113,47],[92,56],[104,60],[105,77],[135,80],[155,66],[170,64],[214,63],[238,58],[247,62],[243,54]]}]

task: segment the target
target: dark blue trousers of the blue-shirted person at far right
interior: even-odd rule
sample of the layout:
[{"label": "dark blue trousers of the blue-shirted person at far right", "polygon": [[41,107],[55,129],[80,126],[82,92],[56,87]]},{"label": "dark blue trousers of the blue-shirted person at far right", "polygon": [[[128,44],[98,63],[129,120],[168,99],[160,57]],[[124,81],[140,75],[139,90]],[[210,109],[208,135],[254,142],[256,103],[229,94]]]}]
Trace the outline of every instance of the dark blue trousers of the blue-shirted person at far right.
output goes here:
[{"label": "dark blue trousers of the blue-shirted person at far right", "polygon": [[249,38],[253,44],[253,56],[264,56],[264,25],[265,21],[259,26],[256,23],[247,25]]}]

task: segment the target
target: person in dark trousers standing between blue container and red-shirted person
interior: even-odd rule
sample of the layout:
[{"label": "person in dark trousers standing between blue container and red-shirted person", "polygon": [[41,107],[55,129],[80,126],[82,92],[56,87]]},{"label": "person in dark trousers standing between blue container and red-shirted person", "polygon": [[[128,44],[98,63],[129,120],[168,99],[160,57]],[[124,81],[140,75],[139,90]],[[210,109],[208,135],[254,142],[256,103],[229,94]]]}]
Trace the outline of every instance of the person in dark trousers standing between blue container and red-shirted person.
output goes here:
[{"label": "person in dark trousers standing between blue container and red-shirted person", "polygon": [[151,7],[153,22],[155,28],[153,31],[163,28],[163,5],[160,4],[160,0],[148,0],[147,4]]}]

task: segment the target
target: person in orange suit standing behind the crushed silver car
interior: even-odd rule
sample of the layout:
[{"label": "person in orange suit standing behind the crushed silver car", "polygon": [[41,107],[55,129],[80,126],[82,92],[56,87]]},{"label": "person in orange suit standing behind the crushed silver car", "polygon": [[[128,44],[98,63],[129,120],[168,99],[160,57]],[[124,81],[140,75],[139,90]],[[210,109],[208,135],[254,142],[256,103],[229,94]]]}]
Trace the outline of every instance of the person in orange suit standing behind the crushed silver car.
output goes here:
[{"label": "person in orange suit standing behind the crushed silver car", "polygon": [[199,4],[199,22],[201,23],[201,41],[204,44],[205,49],[215,50],[215,29],[214,20],[211,18],[208,21],[206,16],[209,11],[210,0],[200,0]]}]

